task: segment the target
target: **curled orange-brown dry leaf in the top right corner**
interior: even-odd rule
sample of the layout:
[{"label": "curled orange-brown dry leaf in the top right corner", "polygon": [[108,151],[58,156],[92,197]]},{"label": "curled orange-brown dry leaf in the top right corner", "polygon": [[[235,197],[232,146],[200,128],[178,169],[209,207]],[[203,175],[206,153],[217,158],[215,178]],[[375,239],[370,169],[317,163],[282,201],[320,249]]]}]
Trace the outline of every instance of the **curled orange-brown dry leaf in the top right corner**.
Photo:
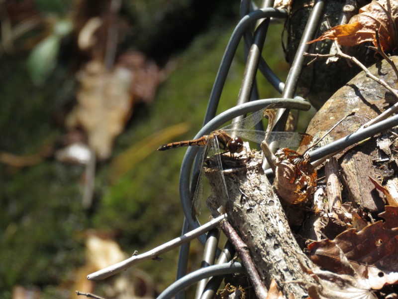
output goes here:
[{"label": "curled orange-brown dry leaf in the top right corner", "polygon": [[363,6],[348,24],[334,26],[309,43],[332,39],[343,46],[355,46],[366,41],[377,46],[376,30],[379,30],[382,49],[394,50],[398,47],[397,19],[396,0],[373,0]]}]

